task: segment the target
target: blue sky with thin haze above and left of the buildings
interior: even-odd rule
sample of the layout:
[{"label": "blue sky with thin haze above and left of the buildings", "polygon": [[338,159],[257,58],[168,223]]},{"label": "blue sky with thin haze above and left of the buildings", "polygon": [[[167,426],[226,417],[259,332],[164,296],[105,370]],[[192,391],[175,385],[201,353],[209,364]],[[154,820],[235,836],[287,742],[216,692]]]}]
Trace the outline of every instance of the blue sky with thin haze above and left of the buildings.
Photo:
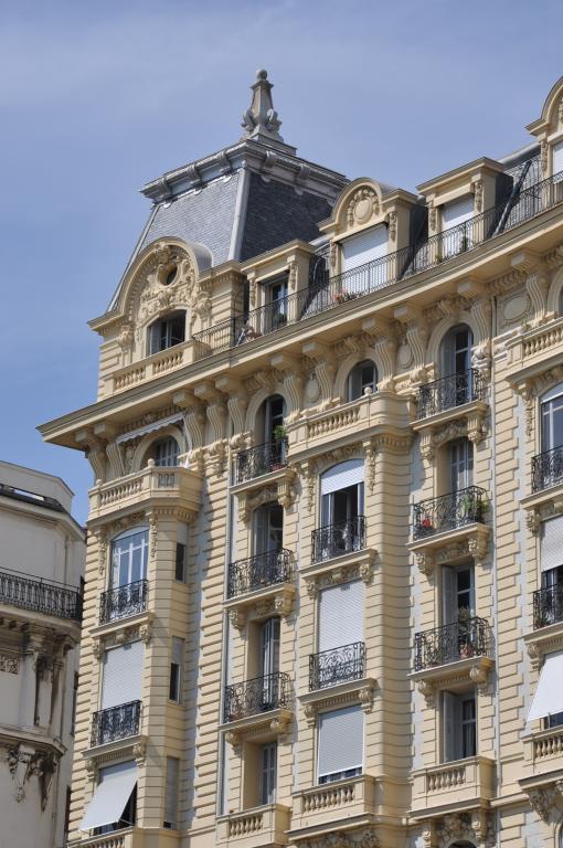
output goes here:
[{"label": "blue sky with thin haze above and left of the buildings", "polygon": [[560,0],[0,0],[0,458],[62,476],[35,426],[95,398],[102,314],[148,180],[235,141],[257,67],[286,141],[413,190],[525,145],[563,74]]}]

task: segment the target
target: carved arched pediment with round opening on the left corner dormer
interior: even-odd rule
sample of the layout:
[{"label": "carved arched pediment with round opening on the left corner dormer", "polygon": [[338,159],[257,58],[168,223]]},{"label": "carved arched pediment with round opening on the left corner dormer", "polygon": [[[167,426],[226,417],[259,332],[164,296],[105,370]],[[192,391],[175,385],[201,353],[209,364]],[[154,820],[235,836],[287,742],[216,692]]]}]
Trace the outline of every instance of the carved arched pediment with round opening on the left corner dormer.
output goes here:
[{"label": "carved arched pediment with round opening on the left corner dormer", "polygon": [[135,331],[138,335],[159,316],[181,309],[200,316],[208,314],[209,285],[200,282],[200,273],[211,262],[204,245],[187,244],[179,239],[152,242],[128,268],[111,310],[91,326],[106,335],[117,325],[124,342],[132,343]]}]

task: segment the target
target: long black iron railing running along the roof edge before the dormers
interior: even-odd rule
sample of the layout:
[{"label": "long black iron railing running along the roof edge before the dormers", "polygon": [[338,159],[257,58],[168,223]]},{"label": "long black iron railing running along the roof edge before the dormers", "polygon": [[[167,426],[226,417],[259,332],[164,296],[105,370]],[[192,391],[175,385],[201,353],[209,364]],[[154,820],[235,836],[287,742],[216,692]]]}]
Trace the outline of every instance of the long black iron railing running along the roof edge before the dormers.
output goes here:
[{"label": "long black iron railing running along the roof edge before the dormers", "polygon": [[[326,269],[321,271],[314,275],[315,285],[308,288],[195,332],[194,356],[203,359],[244,344],[465,254],[563,202],[562,177],[554,174],[527,189],[518,189],[497,205],[457,226],[343,274],[329,277]],[[319,257],[311,261],[318,265]]]}]

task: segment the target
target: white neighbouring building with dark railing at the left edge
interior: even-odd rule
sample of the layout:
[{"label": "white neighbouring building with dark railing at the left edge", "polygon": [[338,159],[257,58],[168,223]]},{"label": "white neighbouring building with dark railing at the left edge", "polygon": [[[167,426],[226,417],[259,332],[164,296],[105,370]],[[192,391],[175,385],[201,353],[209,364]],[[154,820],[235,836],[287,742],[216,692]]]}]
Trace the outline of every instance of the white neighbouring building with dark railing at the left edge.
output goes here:
[{"label": "white neighbouring building with dark railing at the left edge", "polygon": [[0,848],[62,848],[85,533],[57,477],[0,462]]}]

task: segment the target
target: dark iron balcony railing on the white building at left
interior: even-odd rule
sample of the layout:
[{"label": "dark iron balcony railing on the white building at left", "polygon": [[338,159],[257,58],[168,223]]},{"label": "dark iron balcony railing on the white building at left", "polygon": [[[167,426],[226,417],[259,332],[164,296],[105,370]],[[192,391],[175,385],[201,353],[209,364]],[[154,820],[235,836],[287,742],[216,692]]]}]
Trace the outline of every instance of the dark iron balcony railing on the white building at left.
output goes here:
[{"label": "dark iron balcony railing on the white building at left", "polygon": [[82,621],[82,594],[76,589],[15,571],[0,571],[0,603]]}]

